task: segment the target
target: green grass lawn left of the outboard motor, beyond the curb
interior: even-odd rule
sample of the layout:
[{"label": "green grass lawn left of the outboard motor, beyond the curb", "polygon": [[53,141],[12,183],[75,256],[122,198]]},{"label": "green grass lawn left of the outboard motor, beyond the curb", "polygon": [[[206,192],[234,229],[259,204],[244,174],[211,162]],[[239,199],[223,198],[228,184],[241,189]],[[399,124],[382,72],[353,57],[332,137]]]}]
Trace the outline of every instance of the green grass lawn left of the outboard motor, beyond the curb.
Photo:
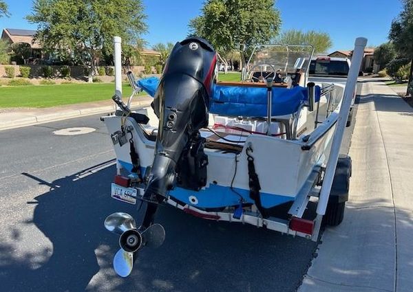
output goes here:
[{"label": "green grass lawn left of the outboard motor, beyond the curb", "polygon": [[[114,83],[0,87],[0,108],[40,108],[110,100],[114,87]],[[123,96],[129,97],[131,93],[131,87],[124,85]]]}]

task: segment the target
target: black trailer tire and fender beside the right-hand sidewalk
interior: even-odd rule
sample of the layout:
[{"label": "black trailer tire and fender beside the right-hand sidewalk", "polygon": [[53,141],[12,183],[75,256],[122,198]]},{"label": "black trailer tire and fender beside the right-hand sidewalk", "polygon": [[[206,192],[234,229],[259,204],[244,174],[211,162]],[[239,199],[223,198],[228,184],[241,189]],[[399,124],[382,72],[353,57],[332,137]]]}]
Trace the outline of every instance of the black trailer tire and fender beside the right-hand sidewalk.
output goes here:
[{"label": "black trailer tire and fender beside the right-hand sidewalk", "polygon": [[346,201],[348,201],[348,188],[351,177],[351,158],[348,155],[340,155],[337,161],[334,179],[326,214],[323,218],[325,225],[337,226],[343,221]]}]

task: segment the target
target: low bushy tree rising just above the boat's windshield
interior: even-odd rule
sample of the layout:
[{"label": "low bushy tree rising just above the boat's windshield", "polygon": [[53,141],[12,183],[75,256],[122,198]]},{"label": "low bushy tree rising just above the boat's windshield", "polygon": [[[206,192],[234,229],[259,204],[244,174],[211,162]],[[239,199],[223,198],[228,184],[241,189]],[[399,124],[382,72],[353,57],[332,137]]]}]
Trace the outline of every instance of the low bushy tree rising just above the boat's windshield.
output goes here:
[{"label": "low bushy tree rising just above the boat's windshield", "polygon": [[287,30],[274,40],[283,45],[313,45],[315,54],[327,52],[332,47],[330,36],[326,32],[301,32],[301,30]]}]

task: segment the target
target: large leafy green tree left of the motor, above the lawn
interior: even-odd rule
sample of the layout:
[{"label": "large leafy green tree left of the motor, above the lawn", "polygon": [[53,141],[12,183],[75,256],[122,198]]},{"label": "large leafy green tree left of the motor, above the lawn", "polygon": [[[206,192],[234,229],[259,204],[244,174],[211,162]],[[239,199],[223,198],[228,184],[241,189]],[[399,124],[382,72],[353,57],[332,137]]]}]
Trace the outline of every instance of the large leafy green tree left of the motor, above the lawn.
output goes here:
[{"label": "large leafy green tree left of the motor, above the lawn", "polygon": [[34,0],[26,19],[38,25],[35,39],[46,52],[88,66],[89,82],[102,52],[113,54],[114,36],[138,46],[147,30],[142,0]]}]

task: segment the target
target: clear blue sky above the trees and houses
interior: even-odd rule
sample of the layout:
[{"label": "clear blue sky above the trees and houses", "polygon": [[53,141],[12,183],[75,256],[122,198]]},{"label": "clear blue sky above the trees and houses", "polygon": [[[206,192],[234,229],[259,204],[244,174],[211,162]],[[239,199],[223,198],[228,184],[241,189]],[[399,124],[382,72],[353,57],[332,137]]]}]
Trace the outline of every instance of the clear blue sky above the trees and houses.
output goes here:
[{"label": "clear blue sky above the trees and houses", "polygon": [[[81,0],[79,0],[81,1]],[[204,0],[142,0],[149,30],[143,38],[147,47],[156,43],[176,43],[188,33],[188,23],[200,14]],[[25,21],[32,0],[6,0],[10,18],[0,19],[0,29],[36,29]],[[259,5],[260,0],[257,0]],[[316,30],[332,38],[331,52],[352,49],[358,36],[368,38],[368,45],[388,41],[392,20],[401,11],[400,0],[277,0],[282,30]]]}]

